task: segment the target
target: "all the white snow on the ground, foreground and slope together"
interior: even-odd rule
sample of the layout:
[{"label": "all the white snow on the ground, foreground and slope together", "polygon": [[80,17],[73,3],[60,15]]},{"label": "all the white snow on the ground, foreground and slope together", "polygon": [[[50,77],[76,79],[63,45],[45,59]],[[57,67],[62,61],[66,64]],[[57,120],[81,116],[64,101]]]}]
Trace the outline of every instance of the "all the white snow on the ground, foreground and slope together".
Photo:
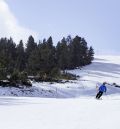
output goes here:
[{"label": "all the white snow on the ground, foreground and slope together", "polygon": [[120,56],[97,56],[69,72],[80,78],[22,90],[0,87],[0,129],[119,129],[120,88],[107,85],[101,100],[95,95],[104,81],[120,85]]}]

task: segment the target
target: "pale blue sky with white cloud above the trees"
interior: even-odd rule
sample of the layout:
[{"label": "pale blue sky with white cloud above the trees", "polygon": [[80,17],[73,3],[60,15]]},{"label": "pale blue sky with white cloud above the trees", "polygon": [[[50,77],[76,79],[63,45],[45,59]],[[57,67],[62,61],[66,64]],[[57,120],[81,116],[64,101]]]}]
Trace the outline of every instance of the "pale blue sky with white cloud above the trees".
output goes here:
[{"label": "pale blue sky with white cloud above the trees", "polygon": [[120,55],[119,12],[119,0],[0,0],[0,37],[52,36],[56,45],[79,35],[97,55]]}]

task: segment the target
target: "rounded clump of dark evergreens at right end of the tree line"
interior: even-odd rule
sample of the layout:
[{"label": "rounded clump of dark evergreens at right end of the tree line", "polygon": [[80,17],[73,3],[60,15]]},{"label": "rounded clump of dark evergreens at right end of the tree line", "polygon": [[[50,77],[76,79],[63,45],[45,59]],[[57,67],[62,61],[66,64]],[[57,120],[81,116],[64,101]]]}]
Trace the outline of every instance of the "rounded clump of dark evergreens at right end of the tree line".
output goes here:
[{"label": "rounded clump of dark evergreens at right end of the tree line", "polygon": [[94,57],[92,47],[87,46],[84,38],[68,36],[58,42],[56,46],[58,66],[62,69],[74,69],[79,66],[90,64]]}]

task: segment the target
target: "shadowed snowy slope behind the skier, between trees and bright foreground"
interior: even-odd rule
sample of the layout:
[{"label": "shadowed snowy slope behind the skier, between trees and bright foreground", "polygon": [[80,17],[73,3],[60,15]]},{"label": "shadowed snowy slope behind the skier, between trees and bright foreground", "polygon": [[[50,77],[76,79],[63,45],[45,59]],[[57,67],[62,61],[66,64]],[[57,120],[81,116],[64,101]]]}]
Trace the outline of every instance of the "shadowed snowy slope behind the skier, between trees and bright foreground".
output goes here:
[{"label": "shadowed snowy slope behind the skier, between trees and bright foreground", "polygon": [[[32,88],[25,89],[0,87],[0,95],[47,98],[94,97],[96,85],[100,85],[104,81],[120,85],[120,56],[98,56],[91,65],[68,72],[79,75],[80,78],[68,83],[34,82]],[[120,88],[108,85],[107,89],[107,96],[120,93]]]}]

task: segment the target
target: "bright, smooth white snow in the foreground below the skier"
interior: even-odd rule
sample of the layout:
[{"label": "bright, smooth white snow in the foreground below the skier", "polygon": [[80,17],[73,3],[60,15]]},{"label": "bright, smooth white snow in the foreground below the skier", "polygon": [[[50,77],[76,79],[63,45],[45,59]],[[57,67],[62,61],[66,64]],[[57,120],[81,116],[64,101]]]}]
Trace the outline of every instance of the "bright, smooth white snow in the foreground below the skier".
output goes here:
[{"label": "bright, smooth white snow in the foreground below the skier", "polygon": [[120,129],[120,100],[0,97],[0,129]]}]

